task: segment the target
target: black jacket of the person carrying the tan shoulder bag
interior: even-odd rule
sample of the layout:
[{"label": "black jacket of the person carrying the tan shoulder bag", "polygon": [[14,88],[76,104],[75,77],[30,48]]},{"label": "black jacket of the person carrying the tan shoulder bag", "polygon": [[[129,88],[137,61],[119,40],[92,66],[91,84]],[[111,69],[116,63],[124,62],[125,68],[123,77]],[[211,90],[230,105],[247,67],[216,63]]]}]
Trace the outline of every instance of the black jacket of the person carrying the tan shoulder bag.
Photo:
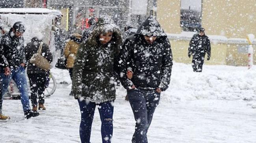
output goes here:
[{"label": "black jacket of the person carrying the tan shoulder bag", "polygon": [[[40,43],[42,40],[38,40],[36,37],[31,39],[31,42],[27,44],[24,51],[26,54],[26,60],[28,61],[28,69],[27,73],[46,73],[45,70],[42,70],[41,68],[38,68],[37,66],[31,64],[29,60],[34,55],[34,53],[37,53],[37,50],[39,49]],[[45,57],[49,62],[52,62],[52,53],[50,52],[50,49],[48,48],[47,44],[43,43],[42,46],[42,55]]]}]

